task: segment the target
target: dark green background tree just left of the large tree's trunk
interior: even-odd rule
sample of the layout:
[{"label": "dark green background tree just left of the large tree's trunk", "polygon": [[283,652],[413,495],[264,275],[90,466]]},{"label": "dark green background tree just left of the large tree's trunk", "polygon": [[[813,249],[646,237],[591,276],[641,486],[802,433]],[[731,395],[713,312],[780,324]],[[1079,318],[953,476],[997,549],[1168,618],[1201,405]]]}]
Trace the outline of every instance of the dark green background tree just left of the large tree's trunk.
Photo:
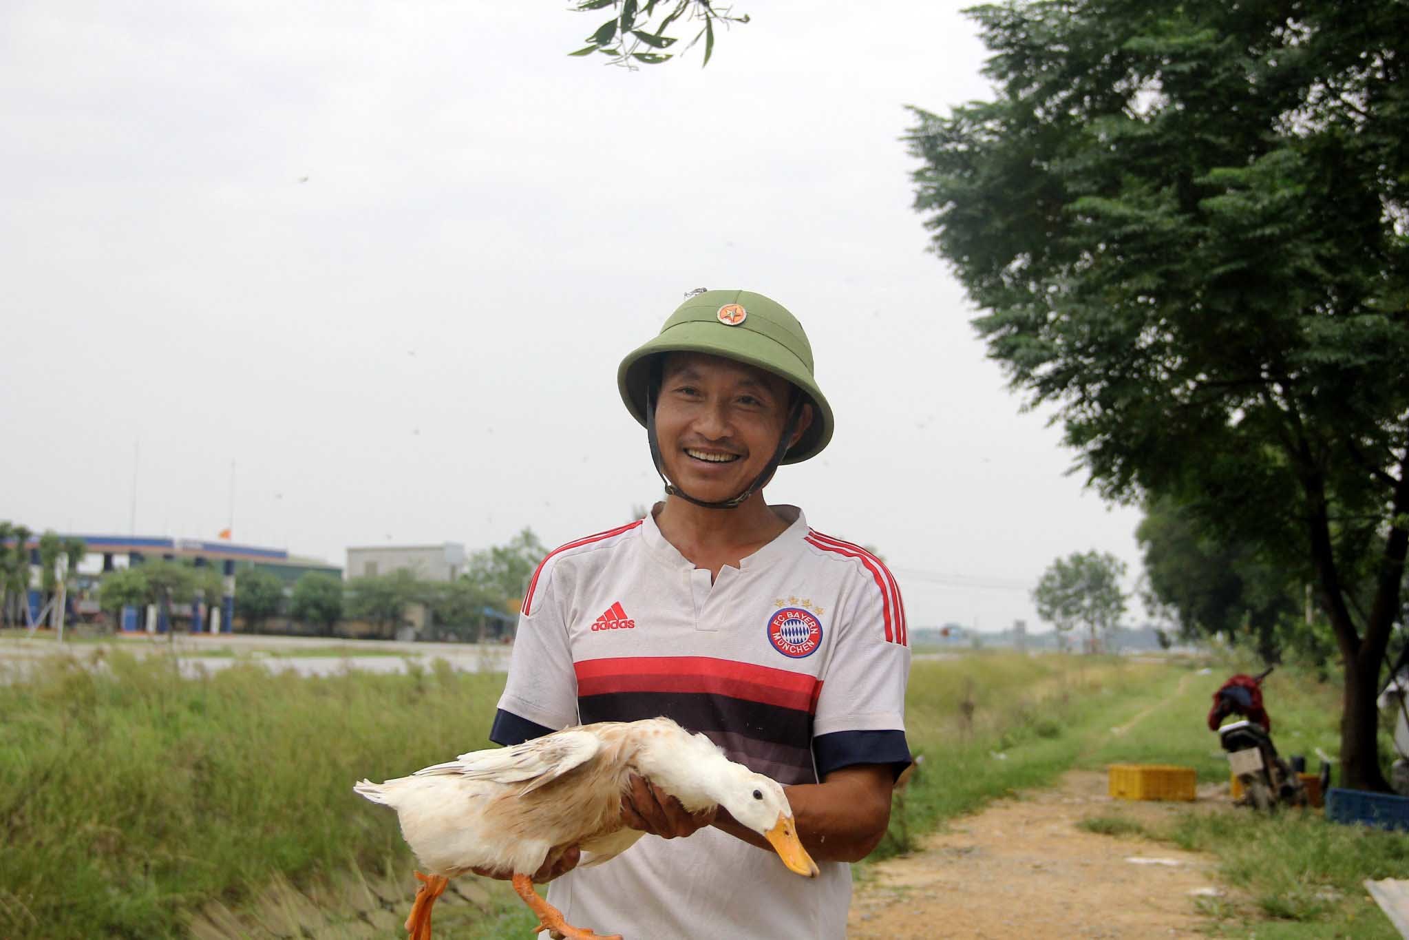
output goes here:
[{"label": "dark green background tree just left of the large tree's trunk", "polygon": [[1267,662],[1299,645],[1301,585],[1264,562],[1255,544],[1217,541],[1169,497],[1147,502],[1136,540],[1148,579],[1146,606],[1171,612],[1185,638],[1222,633],[1250,643]]}]

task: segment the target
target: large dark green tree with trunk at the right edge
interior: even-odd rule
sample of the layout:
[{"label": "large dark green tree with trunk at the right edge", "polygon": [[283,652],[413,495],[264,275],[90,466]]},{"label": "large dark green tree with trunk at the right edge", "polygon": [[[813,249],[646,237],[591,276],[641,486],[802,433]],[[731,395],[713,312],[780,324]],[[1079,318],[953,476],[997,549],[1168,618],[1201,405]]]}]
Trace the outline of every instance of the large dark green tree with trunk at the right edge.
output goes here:
[{"label": "large dark green tree with trunk at the right edge", "polygon": [[[1017,0],[995,97],[916,111],[917,209],[989,355],[1107,497],[1313,581],[1344,784],[1386,789],[1409,544],[1409,4]],[[1361,603],[1360,598],[1368,598]]]}]

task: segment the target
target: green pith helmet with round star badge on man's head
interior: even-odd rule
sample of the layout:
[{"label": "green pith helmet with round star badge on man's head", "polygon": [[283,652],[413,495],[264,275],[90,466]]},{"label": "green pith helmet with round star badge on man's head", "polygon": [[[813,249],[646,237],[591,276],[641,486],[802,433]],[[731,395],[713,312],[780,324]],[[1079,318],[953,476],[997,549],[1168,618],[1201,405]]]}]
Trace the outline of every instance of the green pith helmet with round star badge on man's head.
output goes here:
[{"label": "green pith helmet with round star badge on man's head", "polygon": [[617,388],[631,417],[645,426],[651,364],[665,352],[707,352],[782,376],[807,396],[812,424],[783,464],[816,457],[831,440],[831,406],[812,376],[812,344],[782,304],[751,290],[704,290],[685,300],[659,335],[621,359]]}]

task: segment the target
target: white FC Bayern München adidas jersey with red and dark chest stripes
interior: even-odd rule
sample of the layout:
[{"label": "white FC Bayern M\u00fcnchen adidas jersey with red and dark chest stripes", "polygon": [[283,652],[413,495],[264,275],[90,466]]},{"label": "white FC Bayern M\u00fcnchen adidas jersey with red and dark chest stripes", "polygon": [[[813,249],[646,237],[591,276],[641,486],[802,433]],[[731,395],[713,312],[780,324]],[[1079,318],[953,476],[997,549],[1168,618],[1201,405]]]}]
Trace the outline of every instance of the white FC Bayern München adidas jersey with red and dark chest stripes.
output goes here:
[{"label": "white FC Bayern M\u00fcnchen adidas jersey with red and dark chest stripes", "polygon": [[[551,552],[524,596],[500,719],[555,730],[664,715],[785,785],[903,765],[910,650],[895,578],[796,507],[774,509],[788,530],[713,583],[650,516]],[[519,736],[496,720],[493,737]],[[843,937],[851,870],[819,867],[802,878],[704,829],[647,836],[558,878],[548,899],[568,923],[628,940]]]}]

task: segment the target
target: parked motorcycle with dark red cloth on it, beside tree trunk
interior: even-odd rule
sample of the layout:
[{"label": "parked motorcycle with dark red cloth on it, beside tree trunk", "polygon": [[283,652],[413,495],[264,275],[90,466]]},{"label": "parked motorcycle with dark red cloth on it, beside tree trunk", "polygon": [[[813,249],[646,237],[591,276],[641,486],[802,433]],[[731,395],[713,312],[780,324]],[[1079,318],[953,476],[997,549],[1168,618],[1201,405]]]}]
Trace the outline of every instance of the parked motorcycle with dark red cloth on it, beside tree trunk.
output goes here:
[{"label": "parked motorcycle with dark red cloth on it, beside tree trunk", "polygon": [[[1262,813],[1271,813],[1278,806],[1306,805],[1306,788],[1292,765],[1277,753],[1272,719],[1262,707],[1261,685],[1271,672],[1270,667],[1255,676],[1231,676],[1213,693],[1209,710],[1209,730],[1217,731],[1229,765],[1243,785],[1241,803]],[[1231,715],[1243,717],[1223,724]]]}]

